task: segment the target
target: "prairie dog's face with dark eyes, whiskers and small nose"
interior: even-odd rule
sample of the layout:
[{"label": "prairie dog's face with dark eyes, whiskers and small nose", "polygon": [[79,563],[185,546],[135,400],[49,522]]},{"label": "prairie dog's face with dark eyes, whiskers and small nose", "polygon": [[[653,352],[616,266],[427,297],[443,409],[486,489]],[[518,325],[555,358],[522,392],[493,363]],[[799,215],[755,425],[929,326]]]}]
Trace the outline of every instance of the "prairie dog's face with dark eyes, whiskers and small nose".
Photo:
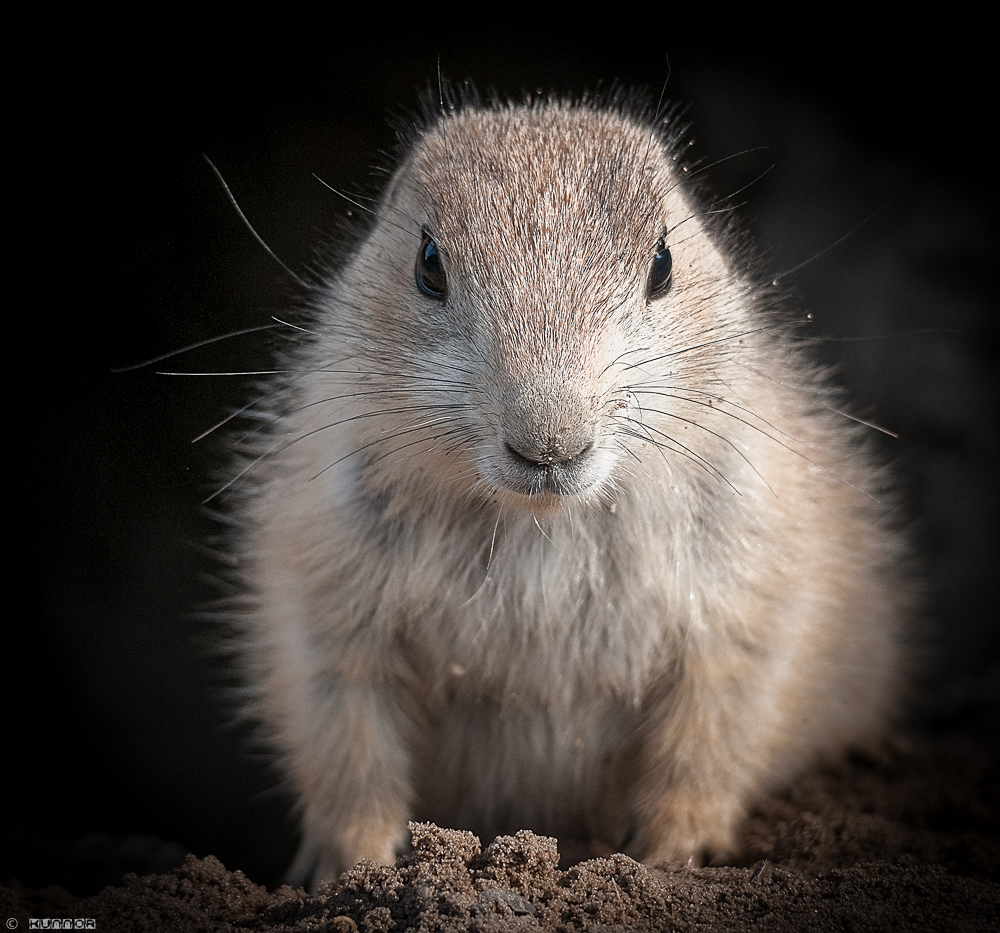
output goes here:
[{"label": "prairie dog's face with dark eyes, whiskers and small nose", "polygon": [[610,500],[633,448],[661,446],[636,386],[718,324],[677,296],[728,279],[672,171],[648,127],[581,109],[458,114],[418,143],[362,261],[388,277],[377,332],[448,413],[425,475],[447,460],[466,488],[546,511]]}]

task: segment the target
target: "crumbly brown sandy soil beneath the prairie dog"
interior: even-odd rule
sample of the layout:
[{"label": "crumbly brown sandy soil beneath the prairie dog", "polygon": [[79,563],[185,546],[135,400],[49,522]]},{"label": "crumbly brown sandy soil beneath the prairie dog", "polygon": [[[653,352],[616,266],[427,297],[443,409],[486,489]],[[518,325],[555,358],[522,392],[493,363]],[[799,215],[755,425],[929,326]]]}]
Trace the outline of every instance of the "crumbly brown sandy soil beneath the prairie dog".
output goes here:
[{"label": "crumbly brown sandy soil beneath the prairie dog", "polygon": [[[740,866],[646,868],[624,855],[558,867],[554,839],[482,849],[412,824],[413,852],[361,863],[318,895],[268,892],[214,858],[75,899],[0,888],[0,916],[98,930],[995,930],[1000,918],[1000,678],[939,698],[882,761],[816,771],[753,814]],[[902,746],[902,743],[901,743]]]}]

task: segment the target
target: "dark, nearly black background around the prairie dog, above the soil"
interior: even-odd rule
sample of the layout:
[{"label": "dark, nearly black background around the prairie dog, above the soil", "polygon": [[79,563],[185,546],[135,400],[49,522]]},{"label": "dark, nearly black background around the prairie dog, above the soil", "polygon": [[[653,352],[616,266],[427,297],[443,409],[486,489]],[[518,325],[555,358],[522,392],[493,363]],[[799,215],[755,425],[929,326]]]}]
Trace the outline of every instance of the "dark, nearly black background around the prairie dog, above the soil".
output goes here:
[{"label": "dark, nearly black background around the prairie dog, above the soil", "polygon": [[[791,281],[814,314],[810,333],[841,338],[821,351],[858,409],[900,435],[885,449],[928,584],[934,676],[995,663],[995,82],[975,25],[902,41],[827,24],[779,43],[758,24],[724,43],[713,24],[713,41],[692,43],[661,18],[620,38],[598,24],[585,38],[484,27],[363,43],[358,27],[303,22],[301,48],[277,28],[266,41],[219,31],[199,45],[197,23],[183,44],[149,24],[129,50],[58,65],[47,126],[26,136],[43,143],[27,228],[41,271],[14,270],[29,280],[15,310],[35,355],[14,404],[38,416],[23,419],[27,444],[15,434],[8,448],[26,500],[9,485],[9,512],[30,515],[28,579],[41,599],[8,622],[0,880],[84,893],[191,850],[274,883],[291,857],[287,801],[226,726],[225,666],[199,614],[216,594],[215,529],[200,503],[224,456],[212,437],[191,441],[239,403],[245,380],[156,374],[266,367],[266,342],[114,370],[286,306],[287,276],[203,153],[301,269],[349,208],[313,173],[373,192],[371,167],[394,151],[390,122],[435,84],[439,56],[446,76],[509,94],[619,79],[655,99],[669,54],[667,95],[691,105],[706,162],[735,156],[711,169],[712,186],[749,186],[739,214],[775,273],[871,217]],[[150,38],[166,51],[146,48]]]}]

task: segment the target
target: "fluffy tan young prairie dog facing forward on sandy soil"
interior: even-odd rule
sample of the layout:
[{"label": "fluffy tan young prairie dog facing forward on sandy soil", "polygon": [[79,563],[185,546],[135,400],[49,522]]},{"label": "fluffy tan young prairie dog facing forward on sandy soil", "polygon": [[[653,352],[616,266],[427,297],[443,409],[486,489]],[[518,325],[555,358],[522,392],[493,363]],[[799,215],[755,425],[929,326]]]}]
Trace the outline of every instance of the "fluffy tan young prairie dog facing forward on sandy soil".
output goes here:
[{"label": "fluffy tan young prairie dog facing forward on sandy soil", "polygon": [[245,450],[241,647],[295,881],[407,821],[721,859],[878,740],[884,477],[637,108],[419,128]]}]

